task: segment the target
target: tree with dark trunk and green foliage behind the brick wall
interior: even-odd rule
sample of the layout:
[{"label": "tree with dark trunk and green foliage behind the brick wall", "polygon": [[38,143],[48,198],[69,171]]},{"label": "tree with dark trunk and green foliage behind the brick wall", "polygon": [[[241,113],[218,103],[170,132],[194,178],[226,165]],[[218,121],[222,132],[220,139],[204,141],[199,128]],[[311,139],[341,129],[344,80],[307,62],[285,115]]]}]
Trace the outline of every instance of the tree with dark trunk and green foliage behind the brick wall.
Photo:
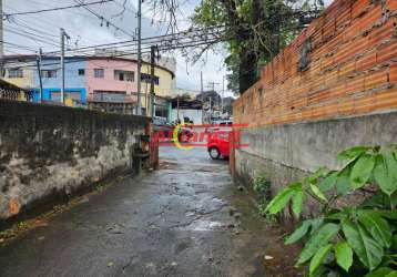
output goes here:
[{"label": "tree with dark trunk and green foliage behind the brick wall", "polygon": [[[170,30],[177,30],[175,12],[177,0],[151,0],[154,10],[166,10]],[[257,80],[258,68],[271,61],[281,49],[317,17],[323,9],[322,0],[202,0],[192,17],[195,27],[216,30],[194,61],[212,47],[224,42],[228,57],[225,59],[232,72],[228,89],[244,93]],[[171,14],[171,16],[170,16]],[[208,39],[210,38],[210,39]]]}]

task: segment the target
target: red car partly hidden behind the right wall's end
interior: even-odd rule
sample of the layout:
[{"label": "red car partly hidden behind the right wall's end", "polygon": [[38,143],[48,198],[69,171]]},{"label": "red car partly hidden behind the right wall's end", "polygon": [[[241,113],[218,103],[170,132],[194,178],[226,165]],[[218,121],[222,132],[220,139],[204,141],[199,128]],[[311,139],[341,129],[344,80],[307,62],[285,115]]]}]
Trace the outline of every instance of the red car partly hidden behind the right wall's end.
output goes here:
[{"label": "red car partly hidden behind the right wall's end", "polygon": [[230,155],[230,136],[232,134],[231,129],[215,129],[212,130],[208,136],[207,150],[212,160],[218,160],[221,157],[228,157]]}]

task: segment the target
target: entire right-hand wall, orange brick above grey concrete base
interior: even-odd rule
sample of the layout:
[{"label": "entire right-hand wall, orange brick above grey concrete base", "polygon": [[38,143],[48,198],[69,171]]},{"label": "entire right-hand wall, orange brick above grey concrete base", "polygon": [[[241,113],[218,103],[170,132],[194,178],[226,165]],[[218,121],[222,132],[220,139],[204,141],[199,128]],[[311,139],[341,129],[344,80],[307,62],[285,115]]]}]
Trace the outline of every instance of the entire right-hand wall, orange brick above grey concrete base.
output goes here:
[{"label": "entire right-hand wall, orange brick above grey concrete base", "polygon": [[337,168],[344,148],[397,142],[396,3],[335,0],[263,69],[233,105],[250,145],[231,154],[235,177],[248,184],[264,171],[275,193]]}]

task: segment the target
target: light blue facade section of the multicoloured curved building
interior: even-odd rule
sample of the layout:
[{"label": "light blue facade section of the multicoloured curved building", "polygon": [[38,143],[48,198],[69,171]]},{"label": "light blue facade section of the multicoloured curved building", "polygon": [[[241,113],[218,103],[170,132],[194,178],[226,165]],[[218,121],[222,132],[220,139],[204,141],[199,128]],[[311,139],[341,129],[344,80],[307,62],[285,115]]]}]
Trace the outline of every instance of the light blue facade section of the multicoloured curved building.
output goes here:
[{"label": "light blue facade section of the multicoloured curved building", "polygon": [[[73,105],[86,105],[85,90],[85,59],[67,58],[65,68],[65,101]],[[62,76],[59,58],[44,58],[41,62],[41,79],[43,86],[43,101],[60,102]],[[40,99],[40,79],[39,72],[33,72],[34,101]]]}]

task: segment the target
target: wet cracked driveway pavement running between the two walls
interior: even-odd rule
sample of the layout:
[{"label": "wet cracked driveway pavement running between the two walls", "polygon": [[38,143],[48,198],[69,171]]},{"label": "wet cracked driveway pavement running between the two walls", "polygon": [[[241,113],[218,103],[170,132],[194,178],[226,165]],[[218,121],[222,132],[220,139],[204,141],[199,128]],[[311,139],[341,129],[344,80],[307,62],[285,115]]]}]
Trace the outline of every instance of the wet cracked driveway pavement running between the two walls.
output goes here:
[{"label": "wet cracked driveway pavement running between the two walls", "polygon": [[297,276],[295,253],[232,184],[227,161],[162,147],[160,171],[0,247],[0,276]]}]

